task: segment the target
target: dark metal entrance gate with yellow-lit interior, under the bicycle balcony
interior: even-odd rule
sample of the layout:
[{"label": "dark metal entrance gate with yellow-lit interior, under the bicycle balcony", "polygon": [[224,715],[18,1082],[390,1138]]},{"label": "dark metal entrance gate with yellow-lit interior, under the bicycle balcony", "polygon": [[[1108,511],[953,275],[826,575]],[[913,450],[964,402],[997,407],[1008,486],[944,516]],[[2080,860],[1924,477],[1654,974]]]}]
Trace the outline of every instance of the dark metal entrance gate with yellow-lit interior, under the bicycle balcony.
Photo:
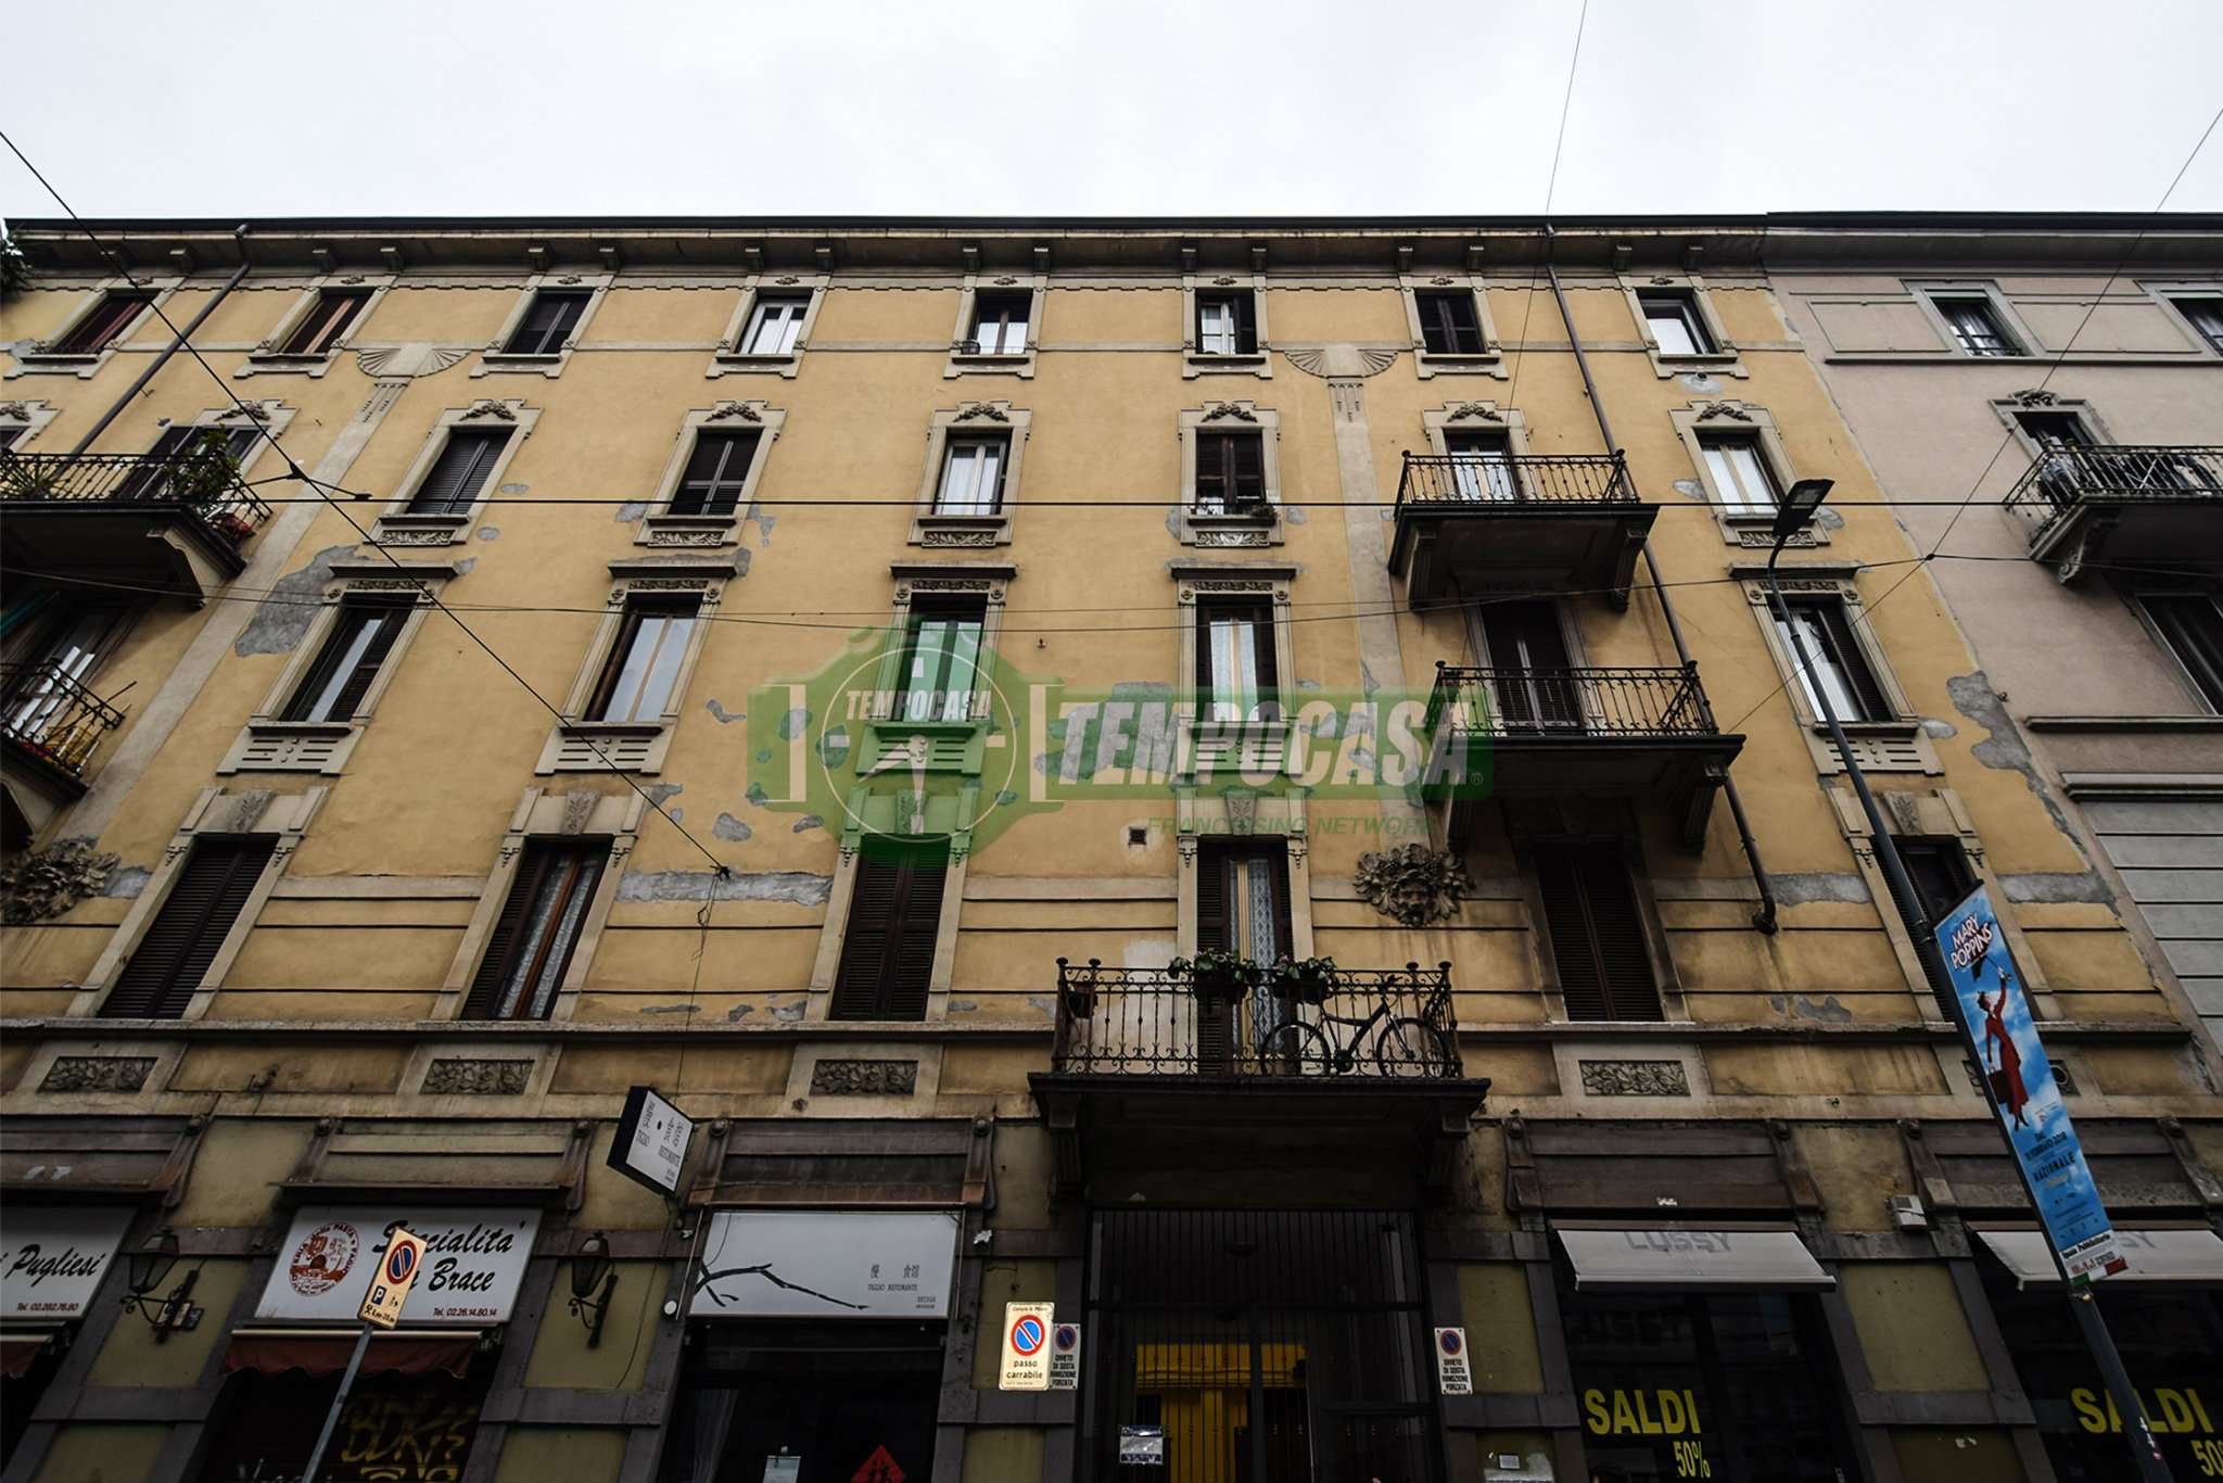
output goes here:
[{"label": "dark metal entrance gate with yellow-lit interior, under the bicycle balcony", "polygon": [[1080,1476],[1436,1483],[1423,1292],[1405,1212],[1096,1212]]}]

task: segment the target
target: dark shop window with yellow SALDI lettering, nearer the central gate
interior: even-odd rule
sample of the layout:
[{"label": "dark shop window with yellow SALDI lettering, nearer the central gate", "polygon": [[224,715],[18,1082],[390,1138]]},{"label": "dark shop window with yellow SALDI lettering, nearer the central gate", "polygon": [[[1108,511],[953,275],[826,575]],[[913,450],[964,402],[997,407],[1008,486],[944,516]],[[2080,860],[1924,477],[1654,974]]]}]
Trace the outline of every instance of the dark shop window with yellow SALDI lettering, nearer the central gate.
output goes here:
[{"label": "dark shop window with yellow SALDI lettering, nearer the central gate", "polygon": [[1852,1483],[1830,1403],[1830,1341],[1810,1296],[1576,1292],[1558,1274],[1598,1483]]}]

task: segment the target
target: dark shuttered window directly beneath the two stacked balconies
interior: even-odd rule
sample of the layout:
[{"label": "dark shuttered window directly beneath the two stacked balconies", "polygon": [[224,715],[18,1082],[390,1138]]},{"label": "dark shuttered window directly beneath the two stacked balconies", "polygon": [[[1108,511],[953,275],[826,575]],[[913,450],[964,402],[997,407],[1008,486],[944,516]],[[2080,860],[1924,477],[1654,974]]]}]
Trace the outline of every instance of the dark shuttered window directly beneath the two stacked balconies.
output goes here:
[{"label": "dark shuttered window directly beneath the two stacked balconies", "polygon": [[1536,894],[1569,1021],[1665,1018],[1618,843],[1536,845]]}]

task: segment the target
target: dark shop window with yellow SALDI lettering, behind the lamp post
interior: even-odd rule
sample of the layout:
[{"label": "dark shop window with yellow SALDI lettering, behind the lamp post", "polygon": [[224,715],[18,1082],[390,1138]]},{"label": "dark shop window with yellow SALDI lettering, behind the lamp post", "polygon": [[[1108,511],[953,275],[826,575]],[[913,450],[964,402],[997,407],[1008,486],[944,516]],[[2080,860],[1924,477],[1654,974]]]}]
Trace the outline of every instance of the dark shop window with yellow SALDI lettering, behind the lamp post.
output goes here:
[{"label": "dark shop window with yellow SALDI lettering, behind the lamp post", "polygon": [[[2025,1287],[1998,1270],[1985,1292],[2038,1416],[2061,1483],[2130,1476],[2123,1419],[2110,1405],[2061,1287]],[[2179,1479],[2223,1479],[2223,1296],[2199,1287],[2099,1285],[2099,1310],[2123,1354],[2154,1441]]]}]

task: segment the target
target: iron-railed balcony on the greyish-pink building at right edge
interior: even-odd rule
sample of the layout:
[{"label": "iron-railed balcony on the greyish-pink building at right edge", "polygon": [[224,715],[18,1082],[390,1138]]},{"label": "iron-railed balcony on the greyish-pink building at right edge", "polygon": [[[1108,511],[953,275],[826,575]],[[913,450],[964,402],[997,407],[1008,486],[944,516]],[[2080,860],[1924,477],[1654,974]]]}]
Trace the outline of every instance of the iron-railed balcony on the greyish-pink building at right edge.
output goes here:
[{"label": "iron-railed balcony on the greyish-pink building at right edge", "polygon": [[2223,574],[2223,449],[2047,447],[2007,491],[2030,556],[2072,583],[2090,567]]}]

